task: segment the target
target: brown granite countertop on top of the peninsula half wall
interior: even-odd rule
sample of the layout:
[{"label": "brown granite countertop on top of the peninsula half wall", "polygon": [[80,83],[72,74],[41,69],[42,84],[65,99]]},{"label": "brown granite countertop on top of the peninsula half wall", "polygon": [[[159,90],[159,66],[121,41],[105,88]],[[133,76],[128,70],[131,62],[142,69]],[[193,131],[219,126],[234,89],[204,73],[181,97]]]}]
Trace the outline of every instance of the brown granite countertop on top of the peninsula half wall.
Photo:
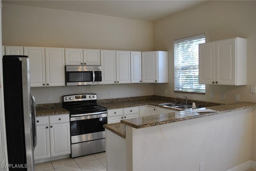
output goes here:
[{"label": "brown granite countertop on top of the peninsula half wall", "polygon": [[[139,129],[139,128],[151,127],[151,126],[173,123],[178,121],[184,121],[188,119],[196,119],[199,117],[206,117],[206,116],[226,113],[230,111],[237,111],[237,110],[247,109],[251,107],[256,107],[256,103],[238,102],[238,103],[231,103],[231,104],[224,104],[224,105],[216,105],[211,107],[202,107],[199,109],[176,111],[176,112],[160,114],[160,115],[124,119],[124,120],[121,120],[120,123],[106,124],[104,125],[104,127],[116,133],[117,135],[125,138],[125,125]],[[217,112],[204,112],[204,113],[196,112],[197,110],[202,110],[202,109],[212,109]]]}]

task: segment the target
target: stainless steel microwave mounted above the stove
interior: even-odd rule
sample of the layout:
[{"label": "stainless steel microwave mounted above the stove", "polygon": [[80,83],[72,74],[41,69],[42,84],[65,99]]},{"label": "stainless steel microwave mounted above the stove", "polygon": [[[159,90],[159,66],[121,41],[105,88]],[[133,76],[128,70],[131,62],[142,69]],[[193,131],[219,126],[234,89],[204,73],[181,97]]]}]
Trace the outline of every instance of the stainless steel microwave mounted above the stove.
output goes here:
[{"label": "stainless steel microwave mounted above the stove", "polygon": [[101,84],[101,66],[65,66],[66,85]]}]

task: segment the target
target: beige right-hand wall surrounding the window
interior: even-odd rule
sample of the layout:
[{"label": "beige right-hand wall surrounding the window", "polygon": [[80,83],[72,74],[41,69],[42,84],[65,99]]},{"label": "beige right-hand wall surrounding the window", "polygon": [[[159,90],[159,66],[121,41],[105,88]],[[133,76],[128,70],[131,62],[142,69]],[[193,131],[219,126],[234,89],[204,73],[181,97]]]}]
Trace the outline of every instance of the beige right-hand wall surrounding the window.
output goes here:
[{"label": "beige right-hand wall surrounding the window", "polygon": [[[186,95],[188,99],[232,103],[237,93],[240,94],[240,101],[256,102],[256,94],[250,93],[250,85],[256,85],[256,1],[208,1],[153,24],[154,50],[169,51],[169,83],[155,85],[155,95]],[[205,95],[174,93],[173,41],[202,33],[206,35],[206,42],[232,37],[247,38],[247,85],[206,85]],[[167,89],[167,94],[164,89]],[[210,92],[214,94],[213,99],[209,98]],[[225,100],[221,99],[221,93],[226,94]]]}]

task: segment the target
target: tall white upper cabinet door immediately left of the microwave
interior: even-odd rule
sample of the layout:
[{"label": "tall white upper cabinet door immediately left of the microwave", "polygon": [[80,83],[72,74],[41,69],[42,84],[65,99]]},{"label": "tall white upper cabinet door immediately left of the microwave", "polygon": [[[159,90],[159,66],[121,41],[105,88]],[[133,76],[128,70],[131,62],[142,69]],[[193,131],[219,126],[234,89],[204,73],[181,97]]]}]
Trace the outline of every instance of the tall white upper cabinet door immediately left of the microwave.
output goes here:
[{"label": "tall white upper cabinet door immediately left of the microwave", "polygon": [[65,85],[64,48],[45,48],[46,85]]}]

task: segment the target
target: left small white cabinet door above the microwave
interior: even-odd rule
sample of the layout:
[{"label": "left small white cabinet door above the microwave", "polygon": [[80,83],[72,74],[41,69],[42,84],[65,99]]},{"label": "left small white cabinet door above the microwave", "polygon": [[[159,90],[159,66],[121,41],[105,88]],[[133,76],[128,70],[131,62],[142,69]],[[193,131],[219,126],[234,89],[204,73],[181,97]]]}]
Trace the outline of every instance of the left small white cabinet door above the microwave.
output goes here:
[{"label": "left small white cabinet door above the microwave", "polygon": [[83,64],[83,49],[65,48],[65,65]]}]

